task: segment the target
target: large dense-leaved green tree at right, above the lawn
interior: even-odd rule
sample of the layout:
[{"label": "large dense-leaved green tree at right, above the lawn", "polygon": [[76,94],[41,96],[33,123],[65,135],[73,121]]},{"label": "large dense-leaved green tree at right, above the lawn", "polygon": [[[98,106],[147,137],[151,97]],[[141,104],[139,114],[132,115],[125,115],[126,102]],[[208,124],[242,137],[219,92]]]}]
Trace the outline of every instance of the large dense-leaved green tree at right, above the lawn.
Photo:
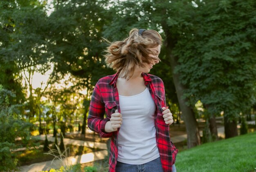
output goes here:
[{"label": "large dense-leaved green tree at right, above the lawn", "polygon": [[238,134],[237,117],[251,106],[255,8],[252,0],[198,2],[194,29],[184,32],[175,49],[184,96],[202,101],[211,116],[224,112],[226,138]]}]

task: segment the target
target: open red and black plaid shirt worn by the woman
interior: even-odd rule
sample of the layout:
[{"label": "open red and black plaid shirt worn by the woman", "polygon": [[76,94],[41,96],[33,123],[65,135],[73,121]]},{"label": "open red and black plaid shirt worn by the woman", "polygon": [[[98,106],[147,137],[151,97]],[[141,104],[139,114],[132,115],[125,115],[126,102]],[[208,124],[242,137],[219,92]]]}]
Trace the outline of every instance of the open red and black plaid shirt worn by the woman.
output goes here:
[{"label": "open red and black plaid shirt worn by the woman", "polygon": [[[117,164],[117,136],[119,130],[106,133],[105,125],[110,121],[111,114],[115,113],[116,109],[121,113],[116,85],[117,76],[118,74],[114,74],[99,79],[92,93],[88,115],[88,127],[92,131],[99,133],[101,137],[111,137],[109,172],[115,172]],[[169,125],[165,124],[162,115],[162,107],[166,107],[164,83],[159,77],[154,75],[142,73],[142,76],[157,107],[155,111],[156,143],[162,167],[164,172],[171,172],[178,150],[171,142]],[[106,118],[104,118],[105,113]]]}]

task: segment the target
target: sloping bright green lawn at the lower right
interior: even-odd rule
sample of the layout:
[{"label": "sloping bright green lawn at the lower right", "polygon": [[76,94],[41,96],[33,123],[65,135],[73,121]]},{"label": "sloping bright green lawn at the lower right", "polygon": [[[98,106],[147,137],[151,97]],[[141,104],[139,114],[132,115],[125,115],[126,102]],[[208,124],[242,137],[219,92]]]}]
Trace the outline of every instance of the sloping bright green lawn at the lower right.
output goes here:
[{"label": "sloping bright green lawn at the lower right", "polygon": [[177,154],[178,172],[256,172],[256,132]]}]

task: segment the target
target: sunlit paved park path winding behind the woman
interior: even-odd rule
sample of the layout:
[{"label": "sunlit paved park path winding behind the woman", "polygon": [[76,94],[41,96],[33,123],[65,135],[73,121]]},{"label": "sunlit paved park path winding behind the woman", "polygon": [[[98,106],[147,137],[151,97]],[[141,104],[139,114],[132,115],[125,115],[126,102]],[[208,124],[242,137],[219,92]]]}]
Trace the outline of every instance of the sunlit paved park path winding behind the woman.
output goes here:
[{"label": "sunlit paved park path winding behind the woman", "polygon": [[[218,130],[218,136],[225,138],[224,127],[219,127],[217,130]],[[200,132],[200,135],[202,135],[202,132]],[[45,140],[45,135],[40,135],[40,136],[36,136],[36,137],[40,140]],[[171,137],[171,141],[173,143],[178,143],[178,142],[185,141],[186,138],[187,138],[187,134],[183,134],[180,136]],[[48,134],[47,139],[49,141],[54,142],[55,138],[53,137],[52,134]],[[59,140],[60,140],[60,138],[58,138],[58,141]],[[92,141],[80,141],[80,140],[74,140],[74,139],[70,139],[70,138],[64,138],[63,141],[64,141],[65,145],[72,144],[72,145],[79,145],[79,146],[85,146],[85,147],[100,148],[103,150],[97,151],[97,152],[91,152],[91,153],[87,153],[87,154],[82,154],[82,155],[77,155],[77,156],[70,156],[70,157],[63,159],[62,161],[54,160],[54,161],[45,161],[45,162],[41,162],[41,163],[35,163],[35,164],[31,164],[31,165],[25,165],[25,166],[20,167],[21,172],[40,172],[40,171],[50,170],[51,168],[57,169],[63,165],[65,166],[65,165],[75,165],[77,163],[81,163],[81,164],[89,163],[92,161],[104,159],[108,155],[106,143],[99,143],[99,142],[92,142]]]}]

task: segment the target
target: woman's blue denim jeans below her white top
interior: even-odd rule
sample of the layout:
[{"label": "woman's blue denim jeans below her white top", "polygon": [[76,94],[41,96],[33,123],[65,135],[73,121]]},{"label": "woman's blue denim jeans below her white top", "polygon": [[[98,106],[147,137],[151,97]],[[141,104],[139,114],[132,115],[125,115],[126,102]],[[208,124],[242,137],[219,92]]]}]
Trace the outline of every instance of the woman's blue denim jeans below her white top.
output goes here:
[{"label": "woman's blue denim jeans below her white top", "polygon": [[[141,165],[126,164],[117,161],[116,172],[163,172],[160,157]],[[173,164],[173,172],[176,172]]]}]

